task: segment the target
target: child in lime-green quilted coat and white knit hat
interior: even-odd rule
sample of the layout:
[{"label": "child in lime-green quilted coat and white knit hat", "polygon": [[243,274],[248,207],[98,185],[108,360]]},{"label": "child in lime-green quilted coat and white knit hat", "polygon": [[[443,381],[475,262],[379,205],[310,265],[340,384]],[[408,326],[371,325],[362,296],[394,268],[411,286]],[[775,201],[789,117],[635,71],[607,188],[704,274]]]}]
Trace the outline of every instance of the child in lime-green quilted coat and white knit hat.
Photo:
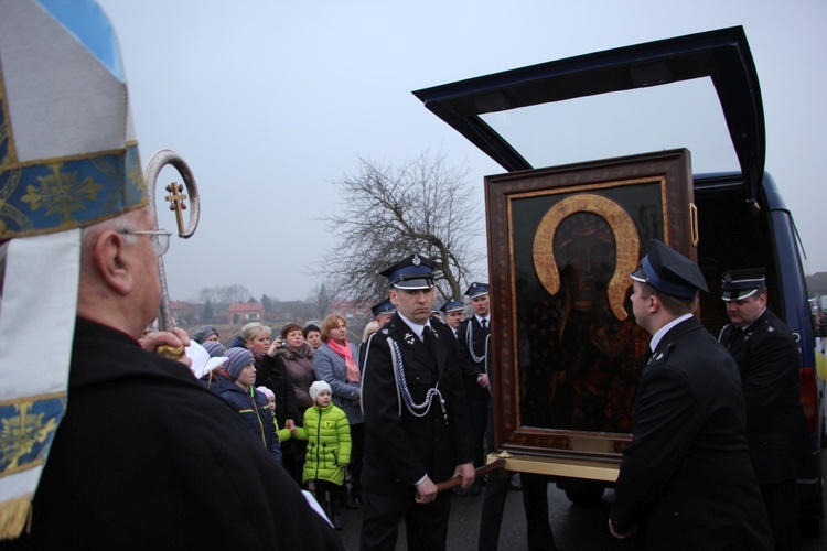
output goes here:
[{"label": "child in lime-green quilted coat and white knit hat", "polygon": [[351,425],[345,412],[331,403],[331,388],[325,381],[313,382],[310,397],[313,406],[304,412],[304,426],[296,429],[296,437],[308,441],[302,482],[315,487],[316,500],[333,527],[341,530],[340,503],[345,467],[351,462]]}]

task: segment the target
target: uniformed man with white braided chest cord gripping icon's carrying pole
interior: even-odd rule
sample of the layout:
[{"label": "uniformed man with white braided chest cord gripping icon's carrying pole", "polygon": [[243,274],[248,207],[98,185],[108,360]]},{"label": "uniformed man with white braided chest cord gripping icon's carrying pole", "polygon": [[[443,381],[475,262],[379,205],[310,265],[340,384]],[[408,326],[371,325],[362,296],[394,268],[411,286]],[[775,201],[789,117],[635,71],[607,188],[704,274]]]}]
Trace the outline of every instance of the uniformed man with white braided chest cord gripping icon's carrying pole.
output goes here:
[{"label": "uniformed man with white braided chest cord gripping icon's carrying pole", "polygon": [[457,345],[431,324],[433,262],[412,255],[382,274],[397,312],[373,334],[362,379],[365,458],[362,550],[393,550],[405,519],[408,549],[444,549],[450,496],[437,483],[474,477]]}]

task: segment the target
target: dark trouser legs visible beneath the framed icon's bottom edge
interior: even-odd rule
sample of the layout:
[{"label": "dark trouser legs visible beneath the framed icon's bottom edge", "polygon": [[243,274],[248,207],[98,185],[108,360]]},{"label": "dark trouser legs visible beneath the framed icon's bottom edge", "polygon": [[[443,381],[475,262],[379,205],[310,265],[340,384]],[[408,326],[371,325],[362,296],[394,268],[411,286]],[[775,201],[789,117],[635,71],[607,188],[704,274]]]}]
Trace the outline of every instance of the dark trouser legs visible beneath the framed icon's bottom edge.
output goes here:
[{"label": "dark trouser legs visible beneath the framed icon's bottom edge", "polygon": [[[495,551],[500,542],[505,498],[511,487],[511,472],[501,471],[488,476],[480,516],[480,551]],[[548,522],[548,483],[546,475],[519,474],[523,484],[523,508],[526,512],[528,549],[557,549],[551,525]]]}]

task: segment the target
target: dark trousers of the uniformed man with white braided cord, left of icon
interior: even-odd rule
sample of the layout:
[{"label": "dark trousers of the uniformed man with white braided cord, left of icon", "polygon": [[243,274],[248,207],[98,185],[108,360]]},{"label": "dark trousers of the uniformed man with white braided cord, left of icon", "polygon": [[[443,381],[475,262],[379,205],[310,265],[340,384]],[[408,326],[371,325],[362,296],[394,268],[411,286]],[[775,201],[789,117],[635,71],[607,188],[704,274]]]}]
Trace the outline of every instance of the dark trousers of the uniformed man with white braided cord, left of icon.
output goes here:
[{"label": "dark trousers of the uniformed man with white braided cord, left of icon", "polygon": [[364,489],[362,499],[361,551],[394,551],[402,519],[410,551],[445,549],[451,512],[451,497],[447,491],[428,505],[417,504],[412,496],[400,499]]}]

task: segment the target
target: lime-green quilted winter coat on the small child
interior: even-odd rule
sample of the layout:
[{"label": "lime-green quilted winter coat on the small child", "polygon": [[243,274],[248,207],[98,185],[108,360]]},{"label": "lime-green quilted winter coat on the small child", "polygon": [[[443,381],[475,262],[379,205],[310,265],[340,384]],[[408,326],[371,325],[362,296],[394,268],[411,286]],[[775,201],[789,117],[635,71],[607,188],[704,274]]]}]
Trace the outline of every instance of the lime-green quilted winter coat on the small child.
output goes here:
[{"label": "lime-green quilted winter coat on the small child", "polygon": [[304,412],[304,426],[296,429],[296,437],[308,441],[302,482],[344,484],[342,467],[351,463],[351,425],[341,408],[313,406]]}]

